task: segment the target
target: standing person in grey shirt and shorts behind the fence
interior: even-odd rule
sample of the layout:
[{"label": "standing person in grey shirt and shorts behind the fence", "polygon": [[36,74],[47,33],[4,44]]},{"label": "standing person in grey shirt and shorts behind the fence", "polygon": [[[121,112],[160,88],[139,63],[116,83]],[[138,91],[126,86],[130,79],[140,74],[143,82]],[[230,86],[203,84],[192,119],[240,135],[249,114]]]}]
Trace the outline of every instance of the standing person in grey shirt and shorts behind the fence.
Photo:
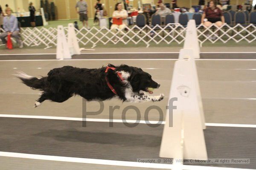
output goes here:
[{"label": "standing person in grey shirt and shorts behind the fence", "polygon": [[90,27],[88,26],[87,7],[87,3],[84,0],[80,0],[76,3],[76,10],[77,8],[79,8],[79,10],[77,11],[77,13],[79,14],[79,20],[83,23],[83,26],[86,25],[86,27],[90,29]]}]

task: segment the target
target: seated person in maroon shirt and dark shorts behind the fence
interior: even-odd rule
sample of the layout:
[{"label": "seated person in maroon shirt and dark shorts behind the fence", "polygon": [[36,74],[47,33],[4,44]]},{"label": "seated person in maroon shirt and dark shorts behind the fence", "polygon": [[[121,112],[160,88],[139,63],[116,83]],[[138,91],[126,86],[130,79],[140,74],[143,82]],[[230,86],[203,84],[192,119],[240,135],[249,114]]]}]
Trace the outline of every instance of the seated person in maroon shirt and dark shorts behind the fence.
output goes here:
[{"label": "seated person in maroon shirt and dark shorts behind the fence", "polygon": [[216,6],[216,1],[211,0],[209,3],[209,7],[204,9],[201,23],[203,23],[206,27],[211,26],[212,23],[214,23],[217,27],[221,27],[225,23],[225,19],[221,9]]}]

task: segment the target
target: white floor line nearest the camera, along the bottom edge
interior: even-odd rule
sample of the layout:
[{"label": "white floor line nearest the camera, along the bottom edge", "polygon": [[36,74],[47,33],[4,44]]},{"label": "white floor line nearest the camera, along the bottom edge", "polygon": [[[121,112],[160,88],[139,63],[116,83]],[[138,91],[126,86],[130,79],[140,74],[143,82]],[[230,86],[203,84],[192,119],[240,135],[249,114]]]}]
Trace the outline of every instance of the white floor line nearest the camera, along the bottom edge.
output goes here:
[{"label": "white floor line nearest the camera, along the bottom edge", "polygon": [[[27,153],[13,153],[13,152],[0,152],[0,156],[12,157],[12,158],[25,158],[25,159],[39,159],[47,161],[64,161],[64,162],[75,162],[75,163],[86,163],[86,164],[102,164],[112,166],[124,166],[124,167],[144,167],[144,168],[156,168],[156,169],[173,169],[175,170],[174,164],[157,164],[157,163],[141,163],[133,161],[113,161],[105,159],[88,159],[88,158],[75,158],[66,156],[49,156],[49,155],[36,155]],[[180,164],[181,169],[184,170],[252,170],[242,168],[231,168],[231,167],[210,167],[210,166],[198,166],[198,165],[183,165]]]}]

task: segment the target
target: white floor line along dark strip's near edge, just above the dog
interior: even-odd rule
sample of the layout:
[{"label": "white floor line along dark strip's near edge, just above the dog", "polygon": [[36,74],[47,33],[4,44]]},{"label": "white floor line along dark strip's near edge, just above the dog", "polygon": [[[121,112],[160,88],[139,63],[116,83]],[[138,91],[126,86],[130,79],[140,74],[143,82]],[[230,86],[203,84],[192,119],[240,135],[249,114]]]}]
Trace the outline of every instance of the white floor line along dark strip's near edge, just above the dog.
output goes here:
[{"label": "white floor line along dark strip's near edge, just above the dog", "polygon": [[[92,60],[92,61],[109,61],[109,60],[178,60],[178,59],[9,59],[0,60],[0,62],[10,62],[10,61],[82,61],[82,60]],[[195,60],[222,60],[222,61],[255,61],[256,59],[195,59]]]}]

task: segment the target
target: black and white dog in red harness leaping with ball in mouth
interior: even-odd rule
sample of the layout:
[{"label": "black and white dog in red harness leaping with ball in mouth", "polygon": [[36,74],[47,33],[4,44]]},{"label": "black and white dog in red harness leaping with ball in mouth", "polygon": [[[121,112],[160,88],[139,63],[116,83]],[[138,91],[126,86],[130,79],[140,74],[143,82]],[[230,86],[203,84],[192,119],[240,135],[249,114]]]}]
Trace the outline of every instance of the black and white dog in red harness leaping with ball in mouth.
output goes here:
[{"label": "black and white dog in red harness leaping with ball in mouth", "polygon": [[32,89],[43,91],[35,102],[35,107],[44,100],[64,102],[76,94],[88,101],[103,101],[115,96],[127,102],[156,102],[164,98],[163,94],[145,94],[143,91],[153,94],[151,88],[159,88],[160,84],[154,82],[151,75],[141,68],[128,65],[108,64],[107,67],[99,69],[64,66],[52,69],[47,77],[39,79],[23,72],[18,72],[16,76]]}]

